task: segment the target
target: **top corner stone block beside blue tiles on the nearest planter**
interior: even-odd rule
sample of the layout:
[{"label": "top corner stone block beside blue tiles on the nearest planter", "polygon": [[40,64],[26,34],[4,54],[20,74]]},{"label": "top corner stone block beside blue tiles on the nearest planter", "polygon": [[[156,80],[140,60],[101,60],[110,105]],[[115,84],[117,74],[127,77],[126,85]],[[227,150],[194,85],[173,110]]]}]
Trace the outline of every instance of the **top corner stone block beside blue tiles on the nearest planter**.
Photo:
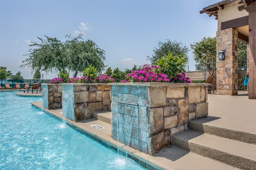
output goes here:
[{"label": "top corner stone block beside blue tiles on the nearest planter", "polygon": [[151,107],[164,106],[166,102],[165,87],[149,87],[148,100]]}]

